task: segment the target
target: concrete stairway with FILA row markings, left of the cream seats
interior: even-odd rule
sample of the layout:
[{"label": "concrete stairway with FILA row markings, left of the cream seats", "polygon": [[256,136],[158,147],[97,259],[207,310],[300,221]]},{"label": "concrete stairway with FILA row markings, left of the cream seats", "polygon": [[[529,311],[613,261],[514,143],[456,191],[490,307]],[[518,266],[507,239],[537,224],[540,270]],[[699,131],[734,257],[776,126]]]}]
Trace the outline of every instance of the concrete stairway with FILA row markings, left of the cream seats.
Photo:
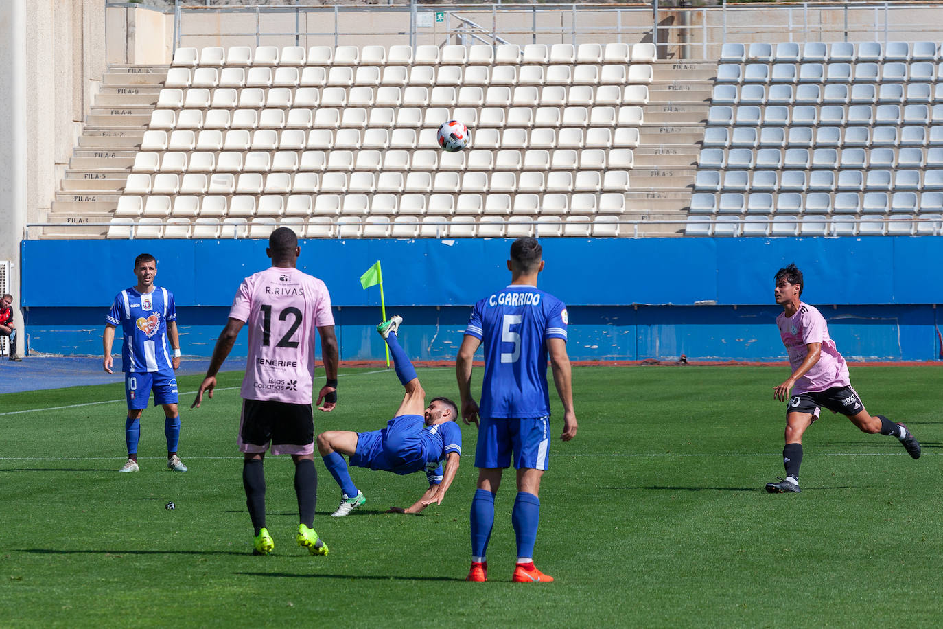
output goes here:
[{"label": "concrete stairway with FILA row markings, left of the cream seats", "polygon": [[[118,207],[167,67],[111,66],[102,81],[42,228],[48,238],[104,236]],[[85,225],[85,226],[83,226]]]}]

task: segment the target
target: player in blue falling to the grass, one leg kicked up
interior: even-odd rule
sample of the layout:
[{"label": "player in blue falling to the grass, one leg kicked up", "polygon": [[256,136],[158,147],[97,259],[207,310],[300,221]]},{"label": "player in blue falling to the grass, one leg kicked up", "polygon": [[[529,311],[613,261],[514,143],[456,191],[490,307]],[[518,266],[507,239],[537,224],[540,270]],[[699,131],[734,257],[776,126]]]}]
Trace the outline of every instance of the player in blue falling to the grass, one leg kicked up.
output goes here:
[{"label": "player in blue falling to the grass, one leg kicked up", "polygon": [[433,503],[441,505],[458,471],[458,457],[462,454],[462,431],[455,422],[458,408],[452,400],[444,397],[433,398],[429,406],[425,405],[425,390],[396,338],[402,322],[403,317],[397,315],[376,326],[377,332],[387,339],[396,375],[405,388],[403,403],[393,419],[382,430],[367,433],[329,430],[318,435],[318,452],[342,494],[338,510],[332,514],[335,518],[346,516],[367,502],[363,492],[351,480],[347,463],[341,455],[348,455],[350,464],[358,468],[397,474],[425,471],[429,488],[414,505],[390,509],[396,513],[419,513]]}]

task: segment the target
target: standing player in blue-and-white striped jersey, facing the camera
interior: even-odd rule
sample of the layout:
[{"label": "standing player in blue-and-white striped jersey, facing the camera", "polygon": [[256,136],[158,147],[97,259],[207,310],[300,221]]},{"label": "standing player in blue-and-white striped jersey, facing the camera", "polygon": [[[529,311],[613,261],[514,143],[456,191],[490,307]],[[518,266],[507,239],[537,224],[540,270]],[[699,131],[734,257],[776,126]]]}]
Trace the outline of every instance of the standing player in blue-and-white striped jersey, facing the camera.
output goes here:
[{"label": "standing player in blue-and-white striped jersey, facing the camera", "polygon": [[[177,411],[177,385],[174,371],[180,367],[180,339],[177,334],[174,293],[154,285],[157,260],[141,254],[134,260],[137,286],[122,290],[115,297],[105,317],[102,366],[111,373],[111,345],[115,328],[124,333],[122,371],[127,399],[124,439],[127,461],[118,472],[138,472],[138,441],[141,438],[141,413],[154,390],[154,404],[164,407],[164,436],[167,438],[167,468],[187,472],[177,456],[180,439],[180,415]],[[168,341],[170,343],[168,344]]]}]

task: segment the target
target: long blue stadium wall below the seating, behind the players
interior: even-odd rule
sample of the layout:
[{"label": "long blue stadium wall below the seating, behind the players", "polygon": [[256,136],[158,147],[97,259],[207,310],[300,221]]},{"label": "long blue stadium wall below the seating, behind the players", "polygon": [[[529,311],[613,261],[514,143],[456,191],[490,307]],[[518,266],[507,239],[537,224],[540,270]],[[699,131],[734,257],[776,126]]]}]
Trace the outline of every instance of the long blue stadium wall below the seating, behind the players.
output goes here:
[{"label": "long blue stadium wall below the seating, behind the players", "polygon": [[[344,360],[379,360],[377,288],[405,316],[406,350],[455,357],[472,304],[509,282],[511,240],[303,240],[299,267],[331,291]],[[540,288],[567,302],[578,360],[782,360],[772,276],[796,262],[839,350],[861,360],[937,360],[943,239],[548,239]],[[132,286],[133,259],[157,257],[174,292],[185,355],[209,356],[245,275],[268,266],[263,240],[26,240],[22,279],[32,351],[98,355],[105,313]],[[245,333],[234,356],[245,355]]]}]

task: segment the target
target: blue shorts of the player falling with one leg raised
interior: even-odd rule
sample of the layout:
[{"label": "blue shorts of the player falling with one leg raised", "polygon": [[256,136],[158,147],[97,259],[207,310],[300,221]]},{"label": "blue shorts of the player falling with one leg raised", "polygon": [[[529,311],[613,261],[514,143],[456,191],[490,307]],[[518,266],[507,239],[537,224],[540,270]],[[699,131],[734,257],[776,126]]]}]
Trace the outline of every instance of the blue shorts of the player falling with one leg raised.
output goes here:
[{"label": "blue shorts of the player falling with one leg raised", "polygon": [[383,430],[357,433],[351,465],[397,474],[425,470],[420,437],[423,422],[421,415],[400,415],[389,420]]}]

